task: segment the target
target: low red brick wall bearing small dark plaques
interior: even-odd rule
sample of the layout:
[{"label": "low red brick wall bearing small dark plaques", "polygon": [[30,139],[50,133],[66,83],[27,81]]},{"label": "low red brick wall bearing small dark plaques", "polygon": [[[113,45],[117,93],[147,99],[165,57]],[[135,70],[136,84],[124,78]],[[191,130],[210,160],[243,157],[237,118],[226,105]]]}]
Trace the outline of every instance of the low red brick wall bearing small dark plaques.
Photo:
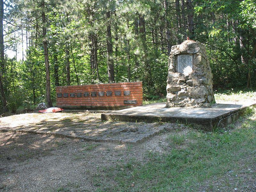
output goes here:
[{"label": "low red brick wall bearing small dark plaques", "polygon": [[[112,91],[112,96],[107,96],[107,91]],[[121,95],[115,96],[115,91],[121,91]],[[130,91],[130,95],[125,96],[124,91]],[[84,97],[84,92],[89,92],[89,96]],[[97,92],[97,96],[92,97],[91,92]],[[104,96],[99,96],[99,92],[104,92]],[[56,95],[57,106],[142,105],[142,82],[58,86],[56,87],[56,93],[62,94],[62,97]],[[63,93],[68,93],[68,97],[63,97]],[[75,97],[70,97],[70,93],[75,93]],[[81,93],[82,96],[77,97],[76,93]],[[137,100],[137,104],[124,104],[124,100]]]}]

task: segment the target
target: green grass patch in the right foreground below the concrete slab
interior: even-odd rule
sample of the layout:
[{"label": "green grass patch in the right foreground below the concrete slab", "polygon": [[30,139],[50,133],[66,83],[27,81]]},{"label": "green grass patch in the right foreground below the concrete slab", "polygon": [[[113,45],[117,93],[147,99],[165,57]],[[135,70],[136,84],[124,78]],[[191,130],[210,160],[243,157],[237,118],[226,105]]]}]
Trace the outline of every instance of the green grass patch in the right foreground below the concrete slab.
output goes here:
[{"label": "green grass patch in the right foreground below the concrete slab", "polygon": [[[188,128],[186,132],[173,132],[166,139],[170,148],[164,153],[148,152],[143,162],[131,159],[108,168],[108,174],[97,173],[94,180],[98,191],[197,191],[207,181],[206,191],[215,191],[218,188],[213,178],[221,180],[230,170],[236,175],[256,163],[256,114],[240,120],[242,125],[231,131]],[[116,185],[107,186],[100,178]],[[224,182],[225,191],[233,191],[236,185],[243,185],[242,179],[237,177],[233,184],[227,179],[218,182]]]}]

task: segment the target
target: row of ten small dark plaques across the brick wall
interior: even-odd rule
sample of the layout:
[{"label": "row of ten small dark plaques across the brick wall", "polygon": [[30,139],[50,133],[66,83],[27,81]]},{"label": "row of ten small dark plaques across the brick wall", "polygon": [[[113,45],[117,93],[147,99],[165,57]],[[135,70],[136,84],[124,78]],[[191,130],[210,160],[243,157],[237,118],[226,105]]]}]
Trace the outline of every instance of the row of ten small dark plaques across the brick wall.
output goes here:
[{"label": "row of ten small dark plaques across the brick wall", "polygon": [[[105,95],[105,92],[98,92],[100,97]],[[131,95],[131,91],[124,91],[124,95]],[[69,93],[70,97],[75,97],[75,93]],[[112,91],[106,91],[106,96],[112,96]],[[115,91],[115,96],[121,96],[121,91]],[[62,97],[62,93],[57,93],[57,97]],[[63,97],[68,97],[68,93],[63,93]],[[76,93],[76,97],[82,97],[82,93]],[[84,97],[89,97],[89,92],[84,92]],[[97,97],[97,92],[91,92],[91,97]]]}]

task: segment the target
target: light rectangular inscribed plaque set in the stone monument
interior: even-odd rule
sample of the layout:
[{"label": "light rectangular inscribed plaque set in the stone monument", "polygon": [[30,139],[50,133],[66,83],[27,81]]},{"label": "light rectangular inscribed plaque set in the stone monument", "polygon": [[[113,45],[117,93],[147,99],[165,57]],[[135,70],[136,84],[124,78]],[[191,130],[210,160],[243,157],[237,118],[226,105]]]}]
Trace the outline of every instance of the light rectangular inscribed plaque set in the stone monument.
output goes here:
[{"label": "light rectangular inscribed plaque set in the stone monument", "polygon": [[178,55],[178,73],[192,72],[192,55]]}]

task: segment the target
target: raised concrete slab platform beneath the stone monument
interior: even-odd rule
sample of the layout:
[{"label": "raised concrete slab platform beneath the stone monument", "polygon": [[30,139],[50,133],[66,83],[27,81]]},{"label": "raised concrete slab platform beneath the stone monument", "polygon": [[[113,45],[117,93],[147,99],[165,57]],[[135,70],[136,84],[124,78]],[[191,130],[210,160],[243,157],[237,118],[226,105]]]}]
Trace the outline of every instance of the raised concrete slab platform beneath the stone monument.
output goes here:
[{"label": "raised concrete slab platform beneath the stone monument", "polygon": [[212,131],[214,127],[225,127],[236,121],[249,106],[256,103],[214,104],[212,108],[165,108],[165,103],[122,109],[101,114],[101,120],[118,120],[130,122],[170,122],[193,124],[204,130]]}]

